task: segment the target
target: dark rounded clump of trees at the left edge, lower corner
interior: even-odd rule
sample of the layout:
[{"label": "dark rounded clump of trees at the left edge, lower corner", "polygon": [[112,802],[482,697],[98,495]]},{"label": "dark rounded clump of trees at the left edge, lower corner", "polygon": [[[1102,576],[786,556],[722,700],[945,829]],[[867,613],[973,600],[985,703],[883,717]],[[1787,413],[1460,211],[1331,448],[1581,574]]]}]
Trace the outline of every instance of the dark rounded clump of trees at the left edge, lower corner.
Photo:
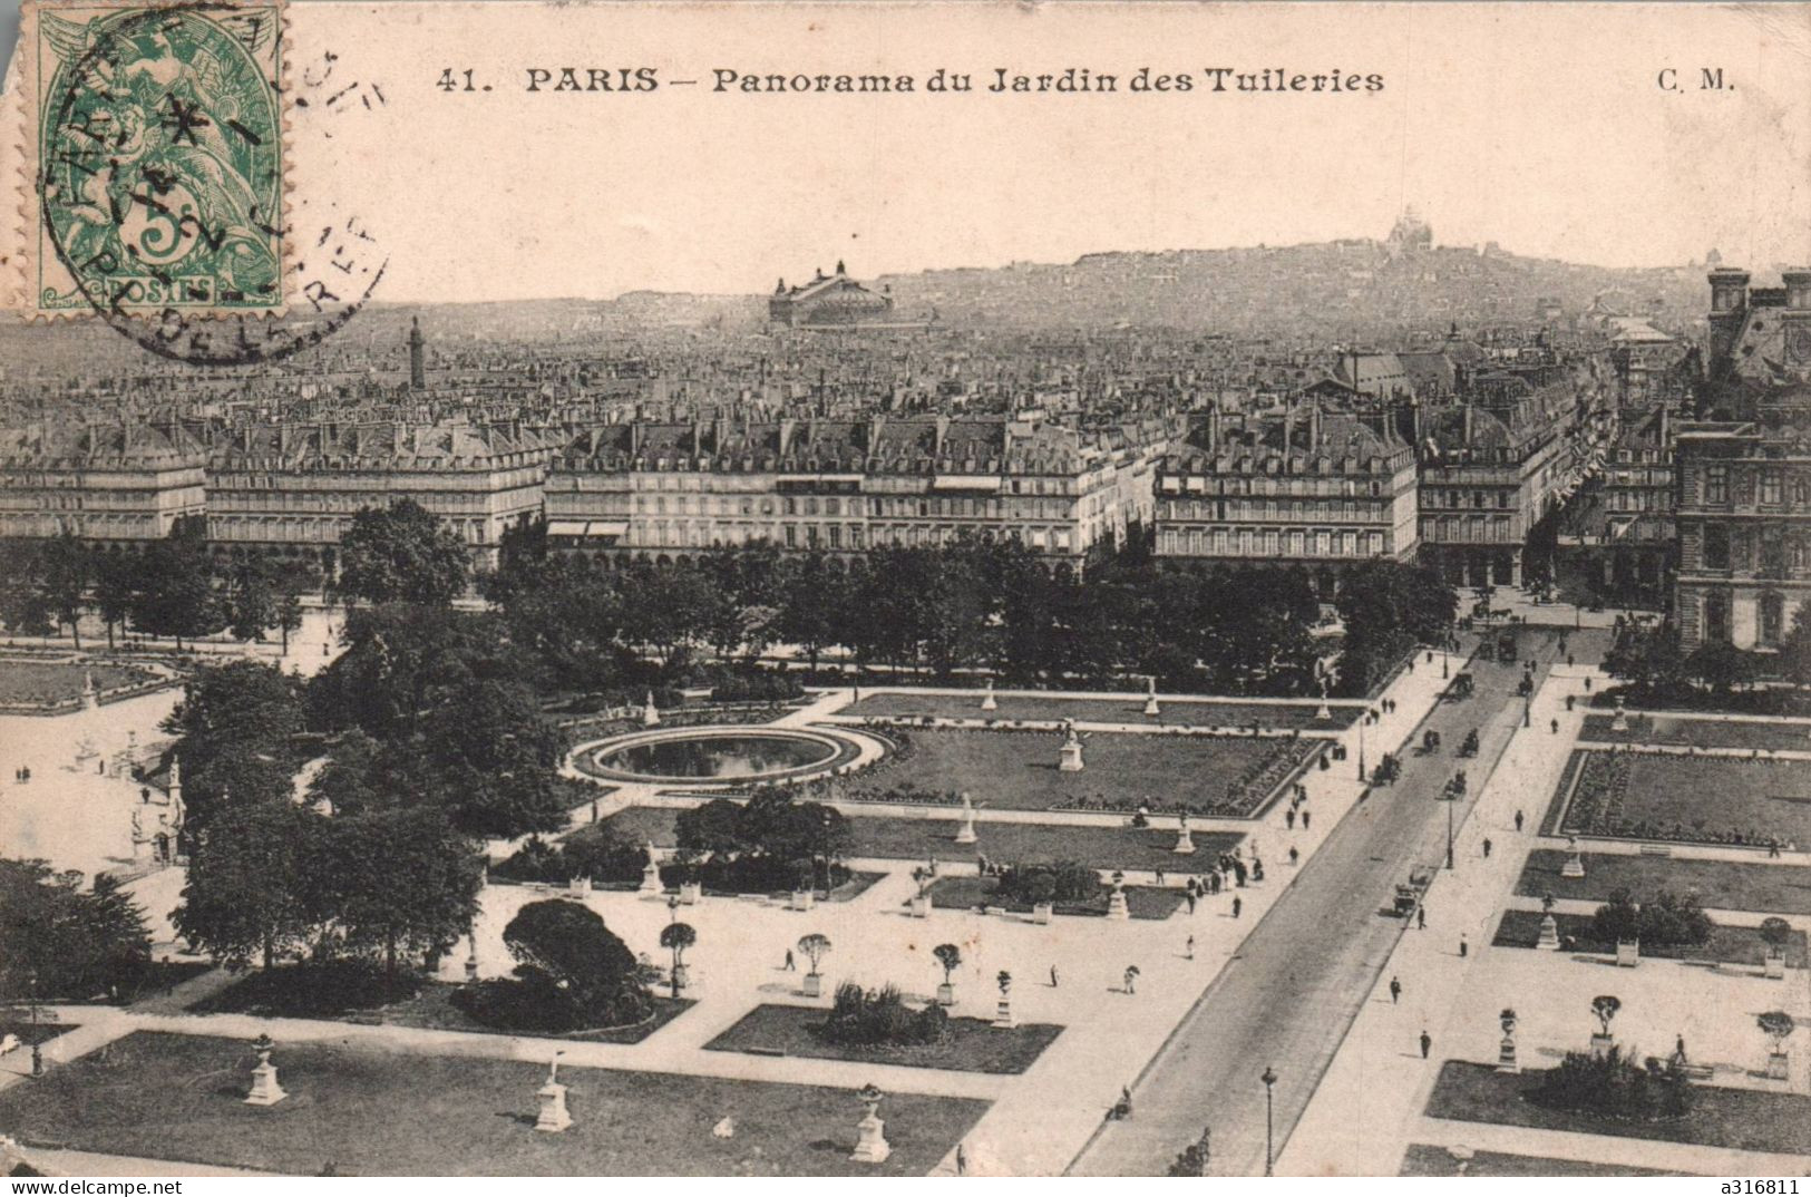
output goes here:
[{"label": "dark rounded clump of trees at the left edge, lower corner", "polygon": [[150,962],[143,911],[110,876],[89,893],[80,880],[43,860],[0,860],[0,1001],[34,989],[85,1001],[134,982]]}]

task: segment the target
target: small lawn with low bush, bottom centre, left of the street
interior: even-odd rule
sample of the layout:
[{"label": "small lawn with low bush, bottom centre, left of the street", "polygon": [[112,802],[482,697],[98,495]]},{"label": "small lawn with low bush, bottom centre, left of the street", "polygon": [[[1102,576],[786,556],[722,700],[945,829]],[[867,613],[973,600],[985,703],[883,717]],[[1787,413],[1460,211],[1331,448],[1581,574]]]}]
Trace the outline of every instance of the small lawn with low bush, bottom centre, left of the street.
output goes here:
[{"label": "small lawn with low bush, bottom centre, left of the street", "polygon": [[911,1047],[849,1047],[820,1039],[826,1010],[802,1005],[757,1005],[733,1027],[704,1045],[708,1052],[748,1052],[849,1059],[862,1065],[953,1068],[956,1072],[1023,1072],[1063,1032],[1052,1023],[996,1029],[985,1018],[951,1018],[942,1043]]}]

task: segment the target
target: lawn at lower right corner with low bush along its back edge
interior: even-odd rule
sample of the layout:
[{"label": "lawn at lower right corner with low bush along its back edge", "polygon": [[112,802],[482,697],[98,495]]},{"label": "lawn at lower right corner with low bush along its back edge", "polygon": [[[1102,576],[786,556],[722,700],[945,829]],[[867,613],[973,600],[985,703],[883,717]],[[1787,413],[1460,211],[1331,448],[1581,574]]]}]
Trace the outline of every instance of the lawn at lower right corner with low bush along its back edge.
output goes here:
[{"label": "lawn at lower right corner with low bush along its back edge", "polygon": [[1586,1135],[1699,1143],[1739,1152],[1811,1154],[1811,1097],[1753,1088],[1693,1085],[1691,1112],[1679,1119],[1635,1123],[1576,1110],[1554,1110],[1523,1099],[1539,1072],[1498,1072],[1490,1065],[1449,1059],[1427,1097],[1429,1117],[1498,1123]]}]

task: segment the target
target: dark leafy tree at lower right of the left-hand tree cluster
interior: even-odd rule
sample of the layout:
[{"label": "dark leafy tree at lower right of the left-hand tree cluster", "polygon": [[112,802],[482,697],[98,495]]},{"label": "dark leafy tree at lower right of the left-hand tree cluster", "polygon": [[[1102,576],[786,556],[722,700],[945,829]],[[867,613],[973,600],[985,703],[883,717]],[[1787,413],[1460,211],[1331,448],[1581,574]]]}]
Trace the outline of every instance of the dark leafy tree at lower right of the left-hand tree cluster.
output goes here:
[{"label": "dark leafy tree at lower right of the left-hand tree cluster", "polygon": [[331,911],[340,943],[382,956],[395,987],[404,953],[447,951],[478,915],[482,864],[438,806],[330,819]]}]

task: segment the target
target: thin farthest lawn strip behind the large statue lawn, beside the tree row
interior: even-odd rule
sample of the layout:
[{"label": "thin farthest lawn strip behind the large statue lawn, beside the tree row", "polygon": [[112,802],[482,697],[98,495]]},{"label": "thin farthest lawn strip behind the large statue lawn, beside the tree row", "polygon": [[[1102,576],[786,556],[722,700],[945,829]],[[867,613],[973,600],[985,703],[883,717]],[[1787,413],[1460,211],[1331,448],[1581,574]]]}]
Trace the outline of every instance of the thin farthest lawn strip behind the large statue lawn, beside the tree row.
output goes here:
[{"label": "thin farthest lawn strip behind the large statue lawn, beside the tree row", "polygon": [[1145,695],[1123,699],[1065,699],[1059,695],[1014,697],[996,694],[998,710],[982,710],[982,690],[973,694],[873,694],[844,706],[838,715],[933,715],[936,719],[1021,719],[1076,723],[1132,723],[1172,728],[1239,728],[1253,723],[1266,728],[1302,728],[1304,732],[1340,732],[1364,713],[1364,706],[1329,703],[1331,719],[1317,719],[1317,704],[1241,703],[1237,699],[1159,699],[1155,715],[1145,713]]}]

